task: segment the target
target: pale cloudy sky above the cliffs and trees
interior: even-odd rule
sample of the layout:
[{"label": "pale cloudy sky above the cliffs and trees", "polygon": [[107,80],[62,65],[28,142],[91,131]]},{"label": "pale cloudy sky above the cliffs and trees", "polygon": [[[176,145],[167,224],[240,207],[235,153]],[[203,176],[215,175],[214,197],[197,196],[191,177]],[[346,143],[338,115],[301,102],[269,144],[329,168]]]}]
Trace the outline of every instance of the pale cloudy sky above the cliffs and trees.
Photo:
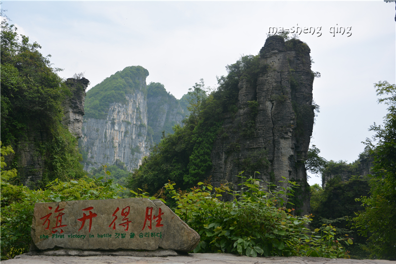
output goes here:
[{"label": "pale cloudy sky above the cliffs and trees", "polygon": [[[295,30],[311,49],[320,106],[311,145],[353,162],[382,124],[374,83],[396,83],[395,3],[377,1],[2,1],[20,34],[51,54],[62,78],[84,73],[92,88],[127,66],[148,69],[180,99],[242,55],[256,55],[270,28]],[[304,27],[312,28],[311,33]],[[315,29],[315,32],[313,32]],[[311,175],[309,184],[321,184]]]}]

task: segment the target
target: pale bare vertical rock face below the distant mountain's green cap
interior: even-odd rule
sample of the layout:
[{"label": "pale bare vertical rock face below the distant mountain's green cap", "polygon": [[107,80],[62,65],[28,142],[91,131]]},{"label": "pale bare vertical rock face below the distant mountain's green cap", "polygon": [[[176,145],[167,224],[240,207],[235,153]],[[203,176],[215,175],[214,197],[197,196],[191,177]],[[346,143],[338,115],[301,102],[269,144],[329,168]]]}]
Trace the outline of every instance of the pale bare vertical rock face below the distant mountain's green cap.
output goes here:
[{"label": "pale bare vertical rock face below the distant mountain's green cap", "polygon": [[146,79],[141,84],[135,94],[126,95],[126,104],[110,104],[106,119],[84,118],[79,145],[88,155],[85,170],[119,159],[131,171],[148,156]]}]

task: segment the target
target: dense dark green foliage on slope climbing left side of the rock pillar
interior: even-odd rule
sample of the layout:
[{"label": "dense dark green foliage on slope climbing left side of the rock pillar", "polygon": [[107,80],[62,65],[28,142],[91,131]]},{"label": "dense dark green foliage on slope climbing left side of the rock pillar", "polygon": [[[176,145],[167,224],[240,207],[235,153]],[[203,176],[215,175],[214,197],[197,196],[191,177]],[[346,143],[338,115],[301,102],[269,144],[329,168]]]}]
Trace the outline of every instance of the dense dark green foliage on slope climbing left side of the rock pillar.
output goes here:
[{"label": "dense dark green foliage on slope climbing left side of the rock pillar", "polygon": [[211,168],[210,153],[222,124],[223,113],[236,108],[238,83],[257,82],[259,55],[241,57],[227,66],[228,75],[218,78],[218,88],[207,95],[203,80],[190,89],[187,107],[190,115],[174,134],[163,136],[150,156],[129,179],[128,187],[153,194],[168,180],[186,189],[202,181]]}]

